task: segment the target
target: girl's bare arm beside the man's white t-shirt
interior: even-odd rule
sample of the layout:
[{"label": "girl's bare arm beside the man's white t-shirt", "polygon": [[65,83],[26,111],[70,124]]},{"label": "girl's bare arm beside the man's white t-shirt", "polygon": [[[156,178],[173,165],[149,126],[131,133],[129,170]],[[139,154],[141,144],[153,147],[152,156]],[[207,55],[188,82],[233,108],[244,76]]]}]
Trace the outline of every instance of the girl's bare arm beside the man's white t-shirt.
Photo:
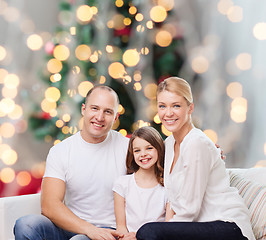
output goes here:
[{"label": "girl's bare arm beside the man's white t-shirt", "polygon": [[128,233],[126,224],[125,199],[116,192],[114,192],[114,208],[116,218],[116,230],[122,234]]}]

